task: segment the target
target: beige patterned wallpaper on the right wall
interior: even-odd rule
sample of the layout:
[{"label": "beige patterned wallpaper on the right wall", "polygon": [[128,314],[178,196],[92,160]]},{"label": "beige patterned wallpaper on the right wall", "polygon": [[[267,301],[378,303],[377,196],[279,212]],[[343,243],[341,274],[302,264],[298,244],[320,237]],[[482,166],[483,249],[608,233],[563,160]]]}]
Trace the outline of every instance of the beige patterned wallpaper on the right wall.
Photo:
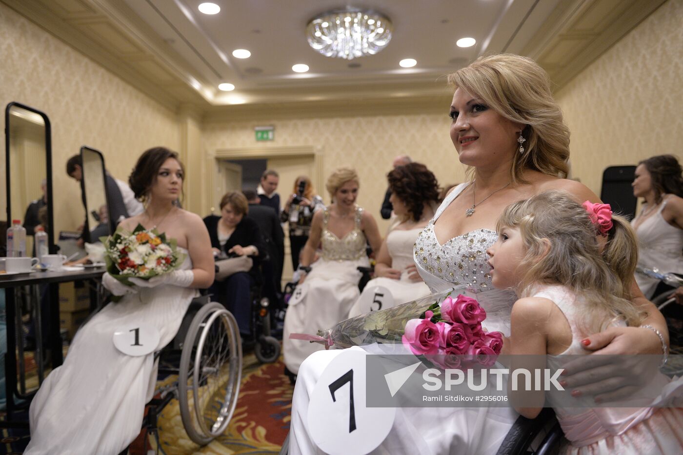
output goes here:
[{"label": "beige patterned wallpaper on the right wall", "polygon": [[605,167],[683,161],[682,24],[683,0],[669,0],[557,94],[573,174],[598,195]]}]

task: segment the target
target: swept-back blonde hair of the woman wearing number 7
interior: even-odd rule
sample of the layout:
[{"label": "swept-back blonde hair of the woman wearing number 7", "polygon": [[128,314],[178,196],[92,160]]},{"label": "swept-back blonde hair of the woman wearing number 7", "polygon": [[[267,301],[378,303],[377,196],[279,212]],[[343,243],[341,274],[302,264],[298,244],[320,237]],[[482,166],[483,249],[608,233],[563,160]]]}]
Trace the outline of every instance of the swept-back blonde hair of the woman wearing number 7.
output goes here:
[{"label": "swept-back blonde hair of the woman wearing number 7", "polygon": [[448,76],[450,85],[461,88],[507,120],[525,125],[526,151],[515,153],[510,181],[522,182],[532,169],[566,178],[569,172],[569,128],[550,92],[548,73],[527,57],[514,54],[479,57]]}]

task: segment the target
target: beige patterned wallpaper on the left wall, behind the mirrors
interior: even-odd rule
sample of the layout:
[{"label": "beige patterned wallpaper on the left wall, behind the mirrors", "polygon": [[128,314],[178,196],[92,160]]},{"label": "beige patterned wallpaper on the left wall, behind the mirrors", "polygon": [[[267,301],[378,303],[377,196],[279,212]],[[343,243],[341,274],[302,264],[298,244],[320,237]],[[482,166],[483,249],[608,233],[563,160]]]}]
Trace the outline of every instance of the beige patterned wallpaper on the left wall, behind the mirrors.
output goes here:
[{"label": "beige patterned wallpaper on the left wall, behind the mirrors", "polygon": [[[176,113],[1,3],[0,56],[3,109],[18,101],[44,111],[52,124],[57,231],[83,222],[79,185],[65,168],[82,145],[102,151],[111,174],[122,180],[146,148],[180,148]],[[4,121],[3,115],[3,128]]]}]

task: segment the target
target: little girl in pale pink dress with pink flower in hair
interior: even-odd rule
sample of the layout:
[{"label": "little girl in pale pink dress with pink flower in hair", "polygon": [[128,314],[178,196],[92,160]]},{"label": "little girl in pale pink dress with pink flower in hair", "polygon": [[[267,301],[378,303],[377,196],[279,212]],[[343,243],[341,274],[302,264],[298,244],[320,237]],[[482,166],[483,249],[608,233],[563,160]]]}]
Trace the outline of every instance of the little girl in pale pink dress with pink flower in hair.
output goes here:
[{"label": "little girl in pale pink dress with pink flower in hair", "polygon": [[[531,358],[515,355],[536,355],[532,359],[544,359],[540,368],[555,371],[570,357],[589,353],[584,346],[591,333],[640,325],[643,314],[628,299],[637,263],[635,235],[609,205],[581,206],[568,193],[548,191],[508,206],[497,231],[497,242],[487,250],[493,285],[512,288],[519,297],[505,340],[512,363],[528,364]],[[665,334],[641,327],[660,338],[666,355]],[[683,453],[683,409],[673,407],[683,405],[683,381],[669,380],[656,363],[636,374],[652,375],[649,394],[634,391],[641,397],[634,406],[643,407],[604,407],[615,397],[589,396],[567,381],[560,381],[564,391],[510,391],[510,399],[529,418],[547,399],[570,441],[566,453]]]}]

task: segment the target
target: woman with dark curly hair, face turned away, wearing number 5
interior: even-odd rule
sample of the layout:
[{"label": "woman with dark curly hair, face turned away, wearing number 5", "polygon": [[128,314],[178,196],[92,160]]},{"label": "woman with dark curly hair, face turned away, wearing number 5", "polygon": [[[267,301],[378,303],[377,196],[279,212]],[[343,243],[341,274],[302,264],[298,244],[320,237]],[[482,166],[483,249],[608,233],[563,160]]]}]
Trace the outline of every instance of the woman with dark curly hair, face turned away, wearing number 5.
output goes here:
[{"label": "woman with dark curly hair, face turned away, wearing number 5", "polygon": [[408,163],[389,172],[389,189],[393,212],[400,219],[385,238],[376,256],[375,276],[365,285],[361,297],[354,303],[349,318],[368,311],[372,292],[382,286],[391,292],[381,308],[386,309],[430,294],[413,262],[413,245],[427,222],[434,216],[438,199],[438,182],[434,174],[420,163]]}]

